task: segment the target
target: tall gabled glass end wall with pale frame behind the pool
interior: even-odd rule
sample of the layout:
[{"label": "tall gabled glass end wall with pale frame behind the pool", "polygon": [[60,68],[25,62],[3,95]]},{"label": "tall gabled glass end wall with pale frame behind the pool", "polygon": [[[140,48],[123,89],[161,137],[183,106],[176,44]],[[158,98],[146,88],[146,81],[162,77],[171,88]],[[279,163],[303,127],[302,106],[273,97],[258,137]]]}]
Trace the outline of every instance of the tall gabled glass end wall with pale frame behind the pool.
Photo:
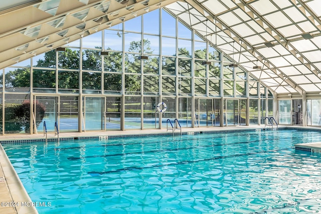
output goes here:
[{"label": "tall gabled glass end wall with pale frame behind the pool", "polygon": [[[3,69],[1,133],[35,133],[44,121],[49,131],[55,122],[60,131],[159,128],[159,102],[167,105],[163,128],[175,118],[182,127],[198,126],[194,118],[223,126],[222,115],[224,125],[245,125],[247,107],[250,123],[258,123],[258,96],[267,89],[163,9],[64,47]],[[272,98],[262,112],[272,111]]]}]

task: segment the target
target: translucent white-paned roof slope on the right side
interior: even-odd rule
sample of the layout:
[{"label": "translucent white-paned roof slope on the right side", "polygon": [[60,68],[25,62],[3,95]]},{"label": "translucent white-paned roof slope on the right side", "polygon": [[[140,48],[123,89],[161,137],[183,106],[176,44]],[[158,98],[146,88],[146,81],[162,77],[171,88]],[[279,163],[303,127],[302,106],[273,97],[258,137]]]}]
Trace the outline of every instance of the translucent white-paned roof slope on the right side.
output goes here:
[{"label": "translucent white-paned roof slope on the right side", "polygon": [[187,0],[166,9],[271,90],[303,93],[321,90],[320,6],[319,0]]}]

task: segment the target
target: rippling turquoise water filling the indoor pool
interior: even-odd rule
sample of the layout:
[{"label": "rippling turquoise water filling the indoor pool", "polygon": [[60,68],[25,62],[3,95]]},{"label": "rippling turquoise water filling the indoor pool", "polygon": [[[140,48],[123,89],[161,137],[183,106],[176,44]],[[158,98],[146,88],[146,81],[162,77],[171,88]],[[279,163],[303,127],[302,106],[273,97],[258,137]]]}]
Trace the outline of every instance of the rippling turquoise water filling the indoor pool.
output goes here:
[{"label": "rippling turquoise water filling the indoor pool", "polygon": [[3,144],[39,213],[315,213],[321,133],[266,130]]}]

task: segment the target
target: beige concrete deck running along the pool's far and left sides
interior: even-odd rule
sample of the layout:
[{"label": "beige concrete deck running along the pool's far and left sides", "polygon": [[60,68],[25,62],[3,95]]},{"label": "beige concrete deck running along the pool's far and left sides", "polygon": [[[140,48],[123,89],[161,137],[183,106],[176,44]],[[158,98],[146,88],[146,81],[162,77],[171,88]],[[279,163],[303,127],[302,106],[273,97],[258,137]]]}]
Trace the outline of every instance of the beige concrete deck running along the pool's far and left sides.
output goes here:
[{"label": "beige concrete deck running along the pool's far and left sides", "polygon": [[[288,127],[288,126],[281,126]],[[289,126],[294,127],[294,126]],[[302,126],[299,126],[302,127]],[[249,129],[264,129],[264,125],[261,126],[230,126],[230,127],[199,127],[199,128],[182,128],[182,132],[206,132],[206,131],[225,131],[225,130],[249,130]],[[270,127],[266,127],[270,129]],[[310,127],[308,129],[311,129]],[[273,128],[275,130],[275,128]],[[166,131],[166,129],[146,129],[146,130],[126,130],[126,131],[88,131],[88,132],[67,132],[60,133],[59,138],[76,138],[76,137],[106,137],[111,135],[148,135],[148,134],[160,134],[160,133],[171,133],[172,130]],[[179,134],[180,130],[176,130],[175,134]],[[48,140],[57,140],[57,135],[54,133],[48,133]],[[26,206],[25,202],[32,202],[28,193],[26,192],[22,182],[20,181],[15,169],[13,168],[6,152],[4,151],[1,142],[2,141],[17,141],[17,140],[44,140],[44,134],[15,134],[15,135],[2,135],[0,136],[0,213],[2,214],[27,214],[27,213],[38,213],[35,206]],[[49,142],[50,143],[50,142]],[[308,148],[311,146],[312,149],[318,149],[321,151],[321,142],[296,144],[300,148]],[[303,150],[303,149],[302,149]],[[7,202],[7,203],[6,203]],[[14,206],[13,202],[17,202],[18,206]],[[35,202],[35,201],[34,201]],[[41,202],[41,201],[39,201]],[[25,206],[23,206],[25,203]],[[30,203],[29,203],[30,204]]]}]

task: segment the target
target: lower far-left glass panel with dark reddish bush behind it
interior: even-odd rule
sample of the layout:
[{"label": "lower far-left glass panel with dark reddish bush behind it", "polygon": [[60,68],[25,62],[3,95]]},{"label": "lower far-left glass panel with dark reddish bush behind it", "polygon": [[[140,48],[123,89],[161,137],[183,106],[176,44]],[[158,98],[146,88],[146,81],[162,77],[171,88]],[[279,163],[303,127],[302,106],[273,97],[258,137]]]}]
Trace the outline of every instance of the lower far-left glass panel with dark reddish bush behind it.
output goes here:
[{"label": "lower far-left glass panel with dark reddish bush behind it", "polygon": [[[0,105],[0,117],[3,118],[3,107],[5,107],[5,128],[2,122],[1,132],[5,134],[30,133],[30,96],[26,94],[6,94],[5,106]],[[41,108],[42,107],[42,108]],[[38,104],[40,119],[36,120],[37,126],[41,123],[44,116],[44,107]]]}]

